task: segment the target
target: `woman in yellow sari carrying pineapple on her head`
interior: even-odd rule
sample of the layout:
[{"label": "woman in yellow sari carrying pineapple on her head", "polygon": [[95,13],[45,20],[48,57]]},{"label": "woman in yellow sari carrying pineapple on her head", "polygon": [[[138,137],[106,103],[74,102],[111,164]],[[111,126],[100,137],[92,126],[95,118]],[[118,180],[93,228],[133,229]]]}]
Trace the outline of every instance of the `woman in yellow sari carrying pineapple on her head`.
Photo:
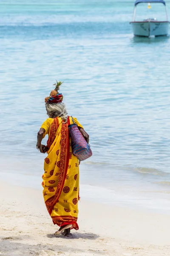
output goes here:
[{"label": "woman in yellow sari carrying pineapple on her head", "polygon": [[[54,84],[49,97],[45,98],[48,119],[42,124],[37,135],[37,149],[47,152],[42,175],[43,196],[47,210],[60,228],[55,235],[70,236],[70,229],[79,229],[77,224],[79,200],[79,160],[72,154],[68,125],[72,118],[67,116],[62,93],[58,93],[62,82]],[[89,142],[89,136],[76,118],[73,118],[79,131]],[[42,139],[48,134],[47,146]]]}]

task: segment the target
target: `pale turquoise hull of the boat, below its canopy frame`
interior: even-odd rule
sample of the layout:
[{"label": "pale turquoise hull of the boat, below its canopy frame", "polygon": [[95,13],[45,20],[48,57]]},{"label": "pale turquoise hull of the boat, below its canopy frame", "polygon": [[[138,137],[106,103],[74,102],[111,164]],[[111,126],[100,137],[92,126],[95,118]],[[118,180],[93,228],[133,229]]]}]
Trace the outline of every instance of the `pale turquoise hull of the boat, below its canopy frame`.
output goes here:
[{"label": "pale turquoise hull of the boat, below its canopy frame", "polygon": [[130,22],[133,34],[137,36],[168,35],[169,21],[133,21]]}]

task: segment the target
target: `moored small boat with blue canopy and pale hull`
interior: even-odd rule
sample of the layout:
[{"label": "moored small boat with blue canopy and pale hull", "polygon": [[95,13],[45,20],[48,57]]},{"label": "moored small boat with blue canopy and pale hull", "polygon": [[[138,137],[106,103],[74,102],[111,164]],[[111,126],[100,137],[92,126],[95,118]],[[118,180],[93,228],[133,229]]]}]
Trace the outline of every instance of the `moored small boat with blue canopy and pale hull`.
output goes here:
[{"label": "moored small boat with blue canopy and pale hull", "polygon": [[[147,3],[148,8],[150,9],[150,3],[162,3],[165,6],[166,20],[159,21],[156,18],[143,21],[135,21],[136,17],[136,6],[139,3]],[[133,28],[133,34],[137,36],[151,37],[151,36],[160,36],[160,35],[168,35],[169,29],[169,21],[167,16],[167,8],[164,0],[136,0],[134,11],[133,11],[133,21],[130,22]]]}]

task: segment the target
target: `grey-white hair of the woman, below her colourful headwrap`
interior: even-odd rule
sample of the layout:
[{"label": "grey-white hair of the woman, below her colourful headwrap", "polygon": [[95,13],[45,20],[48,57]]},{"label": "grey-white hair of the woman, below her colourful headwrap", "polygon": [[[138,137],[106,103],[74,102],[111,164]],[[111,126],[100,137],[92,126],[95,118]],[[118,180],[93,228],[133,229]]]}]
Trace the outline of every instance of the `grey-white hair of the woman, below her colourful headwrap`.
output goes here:
[{"label": "grey-white hair of the woman, below her colourful headwrap", "polygon": [[64,103],[46,103],[45,108],[49,117],[59,116],[67,122],[67,109]]}]

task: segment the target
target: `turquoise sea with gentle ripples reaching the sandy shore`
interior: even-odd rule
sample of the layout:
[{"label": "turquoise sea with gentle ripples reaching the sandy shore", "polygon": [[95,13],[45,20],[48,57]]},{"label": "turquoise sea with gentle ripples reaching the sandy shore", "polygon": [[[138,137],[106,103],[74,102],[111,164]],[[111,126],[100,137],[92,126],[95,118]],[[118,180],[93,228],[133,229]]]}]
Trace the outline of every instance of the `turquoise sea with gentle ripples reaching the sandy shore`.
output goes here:
[{"label": "turquoise sea with gentle ripples reaching the sandy shore", "polygon": [[41,189],[35,144],[57,79],[90,135],[82,198],[170,210],[170,38],[134,38],[133,3],[0,0],[1,179]]}]

